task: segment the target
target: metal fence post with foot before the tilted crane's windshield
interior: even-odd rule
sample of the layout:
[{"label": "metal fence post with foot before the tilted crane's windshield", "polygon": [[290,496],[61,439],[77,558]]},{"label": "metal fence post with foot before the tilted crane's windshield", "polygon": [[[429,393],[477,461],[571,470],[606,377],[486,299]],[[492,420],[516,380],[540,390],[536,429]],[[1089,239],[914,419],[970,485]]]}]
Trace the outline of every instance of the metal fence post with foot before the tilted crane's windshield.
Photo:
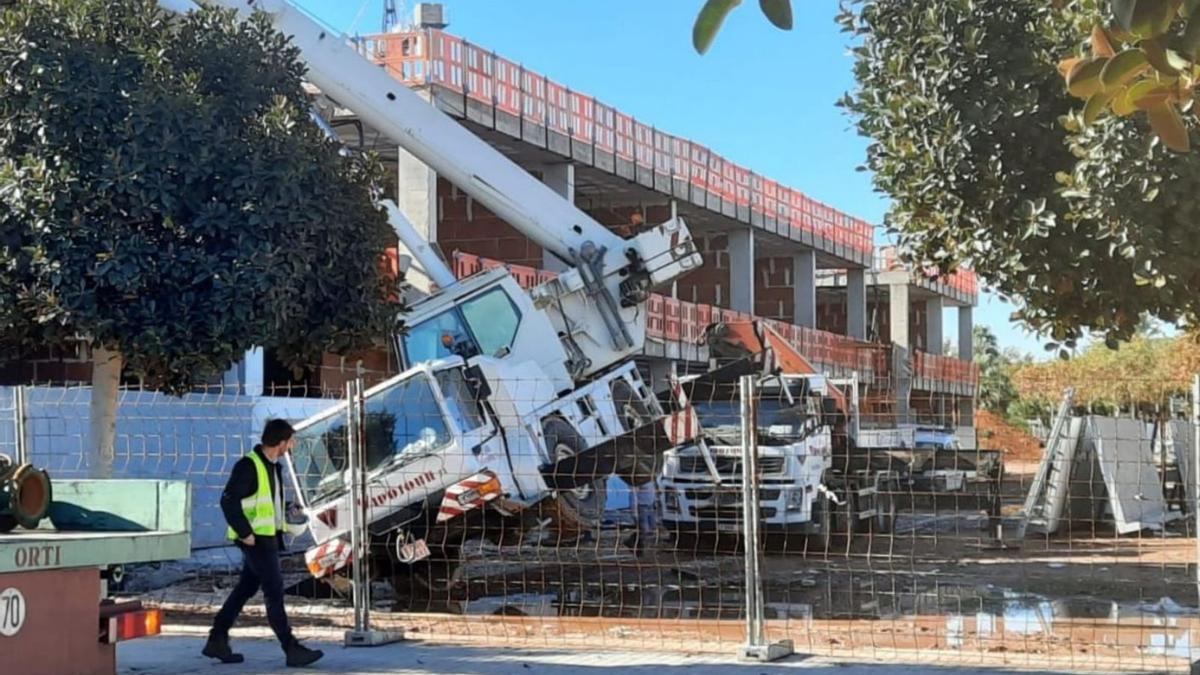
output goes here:
[{"label": "metal fence post with foot before the tilted crane's windshield", "polygon": [[346,646],[373,647],[403,639],[400,631],[371,628],[371,536],[367,531],[366,416],[362,380],[346,383],[346,455],[350,489],[350,578],[354,597],[354,628],[346,632]]}]

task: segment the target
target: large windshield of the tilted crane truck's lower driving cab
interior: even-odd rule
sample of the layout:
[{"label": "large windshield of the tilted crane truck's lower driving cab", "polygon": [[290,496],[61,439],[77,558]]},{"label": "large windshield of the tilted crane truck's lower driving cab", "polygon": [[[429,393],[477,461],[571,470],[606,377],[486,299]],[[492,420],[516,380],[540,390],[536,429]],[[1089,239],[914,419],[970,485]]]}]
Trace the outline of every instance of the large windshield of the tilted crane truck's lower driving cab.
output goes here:
[{"label": "large windshield of the tilted crane truck's lower driving cab", "polygon": [[[434,383],[424,372],[366,396],[364,417],[368,470],[434,452],[451,441]],[[344,404],[298,425],[292,466],[308,503],[344,489],[348,468]]]}]

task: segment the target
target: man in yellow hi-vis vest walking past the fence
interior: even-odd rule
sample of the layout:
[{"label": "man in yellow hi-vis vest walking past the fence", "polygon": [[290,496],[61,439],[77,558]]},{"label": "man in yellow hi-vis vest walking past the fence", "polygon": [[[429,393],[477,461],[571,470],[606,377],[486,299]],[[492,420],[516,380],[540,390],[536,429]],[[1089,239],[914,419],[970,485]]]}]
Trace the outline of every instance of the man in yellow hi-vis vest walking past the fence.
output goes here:
[{"label": "man in yellow hi-vis vest walking past the fence", "polygon": [[[292,425],[282,419],[268,420],[263,442],[238,460],[221,494],[221,510],[229,524],[226,536],[241,549],[241,578],[212,621],[204,645],[204,656],[223,663],[241,663],[240,653],[229,649],[229,629],[251,597],[263,590],[266,620],[280,639],[287,664],[314,663],[324,653],[300,644],[288,626],[283,610],[283,573],[280,551],[288,522],[283,509],[283,471],[280,459],[295,444]],[[302,527],[300,528],[302,531]]]}]

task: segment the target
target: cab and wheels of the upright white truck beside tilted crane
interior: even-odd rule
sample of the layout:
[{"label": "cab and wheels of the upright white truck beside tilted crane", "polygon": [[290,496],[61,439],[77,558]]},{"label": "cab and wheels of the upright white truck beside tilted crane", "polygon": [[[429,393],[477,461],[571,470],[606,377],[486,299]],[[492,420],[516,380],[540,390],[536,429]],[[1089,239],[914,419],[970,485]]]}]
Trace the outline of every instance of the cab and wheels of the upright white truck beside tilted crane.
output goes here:
[{"label": "cab and wheels of the upright white truck beside tilted crane", "polygon": [[[728,380],[679,386],[700,431],[667,453],[659,507],[678,549],[712,550],[744,531],[740,398]],[[830,387],[817,374],[769,372],[757,381],[758,502],[772,549],[823,552],[835,536],[890,532],[895,522],[900,461],[846,437],[844,416],[829,406]]]}]

